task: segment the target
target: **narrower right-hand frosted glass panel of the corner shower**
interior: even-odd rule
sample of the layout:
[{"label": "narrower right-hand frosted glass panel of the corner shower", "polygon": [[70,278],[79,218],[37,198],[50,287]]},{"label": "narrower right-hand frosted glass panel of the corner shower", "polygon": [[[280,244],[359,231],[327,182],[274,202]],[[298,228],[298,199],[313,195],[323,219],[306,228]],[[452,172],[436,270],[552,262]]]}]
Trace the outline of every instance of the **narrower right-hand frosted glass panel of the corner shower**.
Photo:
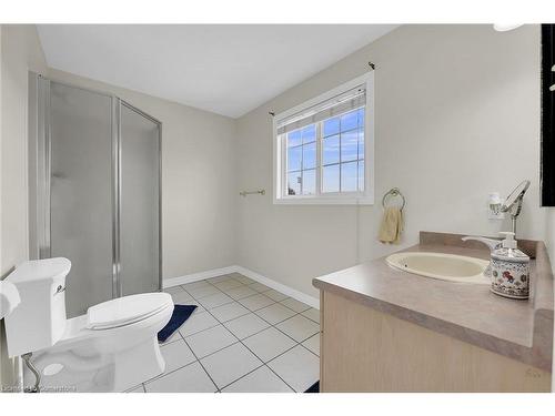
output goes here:
[{"label": "narrower right-hand frosted glass panel of the corner shower", "polygon": [[120,295],[160,290],[160,123],[120,101]]}]

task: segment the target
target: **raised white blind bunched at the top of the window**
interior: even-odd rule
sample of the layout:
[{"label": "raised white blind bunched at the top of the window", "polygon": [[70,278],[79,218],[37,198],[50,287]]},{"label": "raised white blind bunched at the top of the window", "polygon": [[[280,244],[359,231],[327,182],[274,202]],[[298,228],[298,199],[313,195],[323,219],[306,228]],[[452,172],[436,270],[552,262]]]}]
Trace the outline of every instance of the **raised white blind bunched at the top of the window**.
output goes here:
[{"label": "raised white blind bunched at the top of the window", "polygon": [[322,120],[343,114],[366,104],[366,85],[362,84],[278,122],[278,134],[287,133]]}]

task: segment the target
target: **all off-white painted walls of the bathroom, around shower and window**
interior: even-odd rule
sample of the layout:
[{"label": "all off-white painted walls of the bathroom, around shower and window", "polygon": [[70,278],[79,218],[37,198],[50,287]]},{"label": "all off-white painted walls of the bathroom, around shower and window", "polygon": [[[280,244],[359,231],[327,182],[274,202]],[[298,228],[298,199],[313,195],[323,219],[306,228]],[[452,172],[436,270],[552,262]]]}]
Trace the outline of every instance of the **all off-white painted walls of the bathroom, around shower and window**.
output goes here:
[{"label": "all off-white painted walls of the bathroom, around shower and window", "polygon": [[[112,91],[162,121],[167,278],[239,264],[316,295],[312,277],[398,248],[376,242],[380,205],[283,206],[272,204],[271,192],[236,194],[272,189],[268,112],[364,73],[369,60],[377,67],[376,201],[392,186],[405,194],[403,246],[421,230],[493,235],[508,229],[508,221],[486,219],[485,199],[526,177],[532,187],[519,235],[548,239],[555,257],[555,216],[538,207],[538,27],[504,33],[491,26],[401,27],[236,121],[47,70],[33,27],[2,27],[1,44],[2,274],[28,250],[28,68]],[[12,366],[1,352],[0,358],[6,383]]]}]

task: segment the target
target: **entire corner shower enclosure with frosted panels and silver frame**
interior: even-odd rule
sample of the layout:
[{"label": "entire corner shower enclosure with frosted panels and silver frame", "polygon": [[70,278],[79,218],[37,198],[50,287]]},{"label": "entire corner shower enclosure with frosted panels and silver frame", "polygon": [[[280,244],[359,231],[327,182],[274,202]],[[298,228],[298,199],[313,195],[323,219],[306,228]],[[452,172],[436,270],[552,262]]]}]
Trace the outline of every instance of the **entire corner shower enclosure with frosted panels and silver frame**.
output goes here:
[{"label": "entire corner shower enclosure with frosted panels and silver frame", "polygon": [[29,77],[30,257],[67,257],[69,317],[161,290],[161,123],[122,99]]}]

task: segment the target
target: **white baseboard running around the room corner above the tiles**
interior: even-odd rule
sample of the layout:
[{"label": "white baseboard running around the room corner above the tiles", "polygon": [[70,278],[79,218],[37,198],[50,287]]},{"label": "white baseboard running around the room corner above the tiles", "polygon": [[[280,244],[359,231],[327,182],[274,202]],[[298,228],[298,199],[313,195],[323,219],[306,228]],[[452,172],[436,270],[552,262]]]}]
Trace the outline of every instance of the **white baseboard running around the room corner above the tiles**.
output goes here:
[{"label": "white baseboard running around the room corner above the tiles", "polygon": [[253,272],[252,270],[238,265],[213,268],[205,272],[192,273],[184,276],[167,278],[163,281],[163,287],[168,288],[172,286],[179,286],[182,284],[203,281],[205,278],[216,277],[221,276],[222,274],[230,274],[230,273],[241,273],[242,275],[250,277],[255,282],[262,283],[263,285],[272,287],[273,290],[276,290],[278,292],[281,292],[290,297],[293,297],[299,302],[303,302],[316,310],[320,310],[320,300],[317,297],[307,295],[303,292],[297,291],[296,288],[286,286],[270,277],[263,276],[260,273]]}]

